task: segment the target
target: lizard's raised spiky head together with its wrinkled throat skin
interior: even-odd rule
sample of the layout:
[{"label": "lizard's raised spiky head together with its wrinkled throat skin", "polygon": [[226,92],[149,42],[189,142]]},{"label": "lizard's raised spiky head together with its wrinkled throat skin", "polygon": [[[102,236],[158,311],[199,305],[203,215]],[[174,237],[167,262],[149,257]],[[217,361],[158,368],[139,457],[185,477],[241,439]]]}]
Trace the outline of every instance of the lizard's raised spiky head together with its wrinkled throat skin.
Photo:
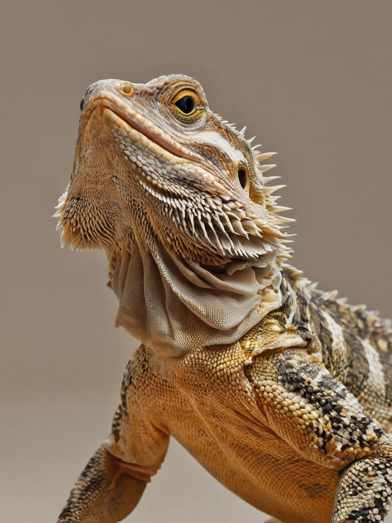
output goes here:
[{"label": "lizard's raised spiky head together with its wrinkled throat skin", "polygon": [[[288,257],[258,153],[182,75],[102,80],[82,99],[62,244],[104,248],[117,325],[148,346],[230,343],[281,303]],[[196,333],[196,334],[195,334]]]}]

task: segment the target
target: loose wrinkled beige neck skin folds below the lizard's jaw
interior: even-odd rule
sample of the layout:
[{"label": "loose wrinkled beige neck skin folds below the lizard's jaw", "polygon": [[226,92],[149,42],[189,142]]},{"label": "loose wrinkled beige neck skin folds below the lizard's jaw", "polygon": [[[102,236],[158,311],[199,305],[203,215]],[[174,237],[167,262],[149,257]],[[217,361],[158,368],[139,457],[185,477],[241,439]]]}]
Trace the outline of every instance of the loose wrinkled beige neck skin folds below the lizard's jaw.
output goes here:
[{"label": "loose wrinkled beige neck skin folds below the lizard's jaw", "polygon": [[282,304],[276,254],[229,263],[223,272],[168,251],[155,235],[136,233],[113,272],[119,298],[116,326],[159,358],[235,343]]}]

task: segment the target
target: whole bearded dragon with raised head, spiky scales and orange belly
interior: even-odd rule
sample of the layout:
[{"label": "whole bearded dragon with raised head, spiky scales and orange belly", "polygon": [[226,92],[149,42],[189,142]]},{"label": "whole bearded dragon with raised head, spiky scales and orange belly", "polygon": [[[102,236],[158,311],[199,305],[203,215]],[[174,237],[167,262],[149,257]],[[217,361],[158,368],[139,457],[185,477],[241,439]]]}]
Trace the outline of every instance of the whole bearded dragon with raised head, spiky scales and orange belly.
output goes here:
[{"label": "whole bearded dragon with raised head, spiky scales and orange belly", "polygon": [[377,522],[392,483],[392,335],[289,265],[273,167],[192,78],[88,87],[62,245],[103,248],[142,345],[58,523],[136,506],[176,438],[285,523]]}]

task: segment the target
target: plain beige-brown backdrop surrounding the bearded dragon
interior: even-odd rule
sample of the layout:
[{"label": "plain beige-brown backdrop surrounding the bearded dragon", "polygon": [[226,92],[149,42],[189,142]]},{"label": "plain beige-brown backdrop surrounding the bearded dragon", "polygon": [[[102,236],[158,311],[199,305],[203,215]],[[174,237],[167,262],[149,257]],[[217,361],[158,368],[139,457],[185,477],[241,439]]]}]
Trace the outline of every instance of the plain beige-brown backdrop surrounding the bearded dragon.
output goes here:
[{"label": "plain beige-brown backdrop surrounding the bearded dragon", "polygon": [[[60,249],[86,87],[186,73],[263,150],[293,263],[391,315],[390,0],[2,3],[0,521],[54,522],[108,433],[136,343],[103,253]],[[263,520],[172,442],[129,521]]]}]

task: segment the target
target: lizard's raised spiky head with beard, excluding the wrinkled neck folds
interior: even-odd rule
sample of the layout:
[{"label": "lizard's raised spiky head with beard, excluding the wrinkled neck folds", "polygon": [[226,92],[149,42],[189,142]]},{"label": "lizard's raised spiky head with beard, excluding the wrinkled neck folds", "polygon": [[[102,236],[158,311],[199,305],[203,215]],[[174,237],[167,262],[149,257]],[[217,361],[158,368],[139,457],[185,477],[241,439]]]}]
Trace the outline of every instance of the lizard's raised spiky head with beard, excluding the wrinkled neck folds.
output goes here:
[{"label": "lizard's raised spiky head with beard, excluding the wrinkled neck folds", "polygon": [[211,267],[284,251],[283,208],[263,177],[272,166],[258,162],[273,153],[255,153],[209,109],[198,82],[103,80],[81,106],[71,184],[57,210],[63,244],[112,256],[152,234]]}]

